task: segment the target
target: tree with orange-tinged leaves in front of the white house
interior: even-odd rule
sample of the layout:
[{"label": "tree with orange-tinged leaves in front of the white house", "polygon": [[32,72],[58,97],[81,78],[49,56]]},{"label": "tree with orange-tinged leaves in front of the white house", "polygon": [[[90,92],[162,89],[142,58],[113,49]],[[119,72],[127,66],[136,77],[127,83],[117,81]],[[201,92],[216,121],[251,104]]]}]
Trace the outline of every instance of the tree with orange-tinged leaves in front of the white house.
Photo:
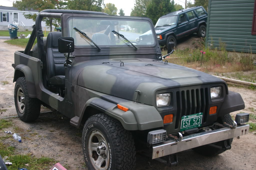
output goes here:
[{"label": "tree with orange-tinged leaves in front of the white house", "polygon": [[[17,0],[13,3],[13,6],[18,8],[19,10],[25,10],[28,8],[29,10],[38,10],[39,12],[44,9],[63,9],[66,6],[66,2],[64,0]],[[37,14],[24,14],[26,19],[33,19],[36,21]],[[46,22],[47,26],[50,26],[50,31],[52,31],[53,21],[56,21],[54,18],[44,18],[43,21]]]}]

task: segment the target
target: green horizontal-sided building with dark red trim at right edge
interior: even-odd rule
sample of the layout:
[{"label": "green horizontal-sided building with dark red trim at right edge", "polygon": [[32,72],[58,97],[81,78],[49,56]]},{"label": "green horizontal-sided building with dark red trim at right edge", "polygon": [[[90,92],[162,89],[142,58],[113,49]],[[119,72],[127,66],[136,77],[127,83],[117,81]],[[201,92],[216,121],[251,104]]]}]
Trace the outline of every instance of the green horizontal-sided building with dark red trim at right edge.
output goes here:
[{"label": "green horizontal-sided building with dark red trim at right edge", "polygon": [[209,0],[206,46],[256,53],[255,8],[256,0]]}]

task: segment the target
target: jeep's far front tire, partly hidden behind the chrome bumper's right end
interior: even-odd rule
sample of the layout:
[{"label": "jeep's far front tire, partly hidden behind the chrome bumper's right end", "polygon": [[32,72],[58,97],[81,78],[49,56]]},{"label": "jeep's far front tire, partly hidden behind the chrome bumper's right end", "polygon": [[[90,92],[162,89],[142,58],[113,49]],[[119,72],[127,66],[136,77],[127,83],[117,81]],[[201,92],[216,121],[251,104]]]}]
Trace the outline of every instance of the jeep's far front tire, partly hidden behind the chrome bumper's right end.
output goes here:
[{"label": "jeep's far front tire, partly hidden behind the chrome bumper's right end", "polygon": [[[232,125],[233,120],[232,120],[231,115],[226,114],[226,115],[222,116],[221,117],[221,123],[223,123],[223,122],[226,122],[226,123]],[[230,140],[230,144],[231,144],[232,141],[233,141],[233,138],[227,139],[227,140]],[[225,140],[224,142],[227,142],[227,140]],[[222,143],[222,141],[215,142],[215,143],[212,143],[212,144],[221,146],[221,143]],[[202,154],[202,155],[205,155],[205,156],[215,156],[215,155],[218,155],[218,154],[221,154],[221,153],[225,152],[222,149],[210,147],[209,145],[199,146],[199,147],[193,148],[193,150],[195,152],[197,152],[199,154]]]}]

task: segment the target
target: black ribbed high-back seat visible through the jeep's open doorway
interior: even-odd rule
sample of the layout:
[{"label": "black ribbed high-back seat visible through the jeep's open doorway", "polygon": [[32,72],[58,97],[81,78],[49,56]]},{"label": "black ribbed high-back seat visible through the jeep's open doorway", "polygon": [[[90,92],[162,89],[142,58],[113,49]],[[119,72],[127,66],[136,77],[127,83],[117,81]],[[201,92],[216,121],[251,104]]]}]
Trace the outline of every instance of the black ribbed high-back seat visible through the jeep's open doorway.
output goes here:
[{"label": "black ribbed high-back seat visible through the jeep's open doorway", "polygon": [[61,32],[50,32],[46,40],[47,80],[49,85],[65,85],[65,56],[59,53],[58,39]]}]

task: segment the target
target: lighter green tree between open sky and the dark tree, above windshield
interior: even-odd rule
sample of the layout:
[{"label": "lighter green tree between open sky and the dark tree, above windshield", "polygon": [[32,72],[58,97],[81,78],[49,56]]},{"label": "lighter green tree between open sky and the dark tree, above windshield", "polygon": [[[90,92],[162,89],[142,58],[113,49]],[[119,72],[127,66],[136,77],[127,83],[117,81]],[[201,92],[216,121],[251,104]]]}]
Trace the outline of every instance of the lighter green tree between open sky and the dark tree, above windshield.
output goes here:
[{"label": "lighter green tree between open sky and the dark tree, above windshield", "polygon": [[151,0],[135,0],[134,7],[131,11],[131,16],[145,17],[147,5]]}]

